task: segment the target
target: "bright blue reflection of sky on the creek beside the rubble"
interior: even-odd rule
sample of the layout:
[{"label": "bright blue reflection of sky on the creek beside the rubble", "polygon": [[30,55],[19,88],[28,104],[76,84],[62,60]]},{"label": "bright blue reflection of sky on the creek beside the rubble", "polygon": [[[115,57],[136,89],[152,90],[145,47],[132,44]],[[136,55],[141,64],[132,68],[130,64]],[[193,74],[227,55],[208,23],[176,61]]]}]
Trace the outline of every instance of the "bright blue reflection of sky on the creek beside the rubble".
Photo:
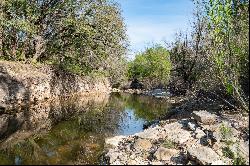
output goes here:
[{"label": "bright blue reflection of sky on the creek beside the rubble", "polygon": [[145,120],[137,118],[134,113],[134,110],[125,108],[119,123],[119,135],[131,135],[143,130]]}]

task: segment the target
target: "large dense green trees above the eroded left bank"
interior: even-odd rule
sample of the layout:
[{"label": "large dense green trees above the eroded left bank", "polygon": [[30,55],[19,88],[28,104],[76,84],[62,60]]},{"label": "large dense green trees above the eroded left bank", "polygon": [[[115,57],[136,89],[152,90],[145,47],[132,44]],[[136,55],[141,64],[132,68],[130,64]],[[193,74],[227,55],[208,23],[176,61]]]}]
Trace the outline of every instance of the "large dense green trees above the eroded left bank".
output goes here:
[{"label": "large dense green trees above the eroded left bank", "polygon": [[105,70],[113,82],[125,76],[127,36],[118,4],[1,0],[0,6],[1,59],[52,63],[77,74]]}]

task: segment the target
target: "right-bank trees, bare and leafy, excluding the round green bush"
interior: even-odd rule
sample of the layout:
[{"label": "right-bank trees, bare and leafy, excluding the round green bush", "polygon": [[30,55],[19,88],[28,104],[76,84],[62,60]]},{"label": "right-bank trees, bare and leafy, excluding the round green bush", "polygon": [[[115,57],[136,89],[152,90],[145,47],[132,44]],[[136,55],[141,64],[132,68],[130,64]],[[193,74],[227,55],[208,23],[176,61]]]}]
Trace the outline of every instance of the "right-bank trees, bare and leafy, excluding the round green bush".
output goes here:
[{"label": "right-bank trees, bare and leafy, excluding the round green bush", "polygon": [[226,105],[248,111],[249,1],[194,2],[191,35],[179,34],[170,51],[171,83],[183,80],[181,87],[215,92]]}]

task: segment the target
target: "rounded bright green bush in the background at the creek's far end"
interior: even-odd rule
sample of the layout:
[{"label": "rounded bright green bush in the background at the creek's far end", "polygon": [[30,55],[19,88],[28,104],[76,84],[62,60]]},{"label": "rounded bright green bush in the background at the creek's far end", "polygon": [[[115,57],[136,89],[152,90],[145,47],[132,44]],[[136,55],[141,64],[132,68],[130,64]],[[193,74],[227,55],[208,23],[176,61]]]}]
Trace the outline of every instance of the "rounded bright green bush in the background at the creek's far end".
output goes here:
[{"label": "rounded bright green bush in the background at the creek's far end", "polygon": [[129,63],[128,77],[138,79],[148,88],[166,85],[170,77],[171,62],[169,52],[162,46],[147,48]]}]

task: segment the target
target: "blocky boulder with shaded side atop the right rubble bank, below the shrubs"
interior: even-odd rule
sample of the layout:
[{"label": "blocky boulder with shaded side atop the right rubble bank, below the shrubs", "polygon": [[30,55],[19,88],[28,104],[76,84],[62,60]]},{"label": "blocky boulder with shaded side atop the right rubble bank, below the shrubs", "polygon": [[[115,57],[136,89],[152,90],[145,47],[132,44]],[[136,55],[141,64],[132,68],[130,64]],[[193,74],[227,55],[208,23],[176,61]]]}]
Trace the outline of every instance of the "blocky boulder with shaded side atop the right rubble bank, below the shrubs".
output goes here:
[{"label": "blocky boulder with shaded side atop the right rubble bank, below the shrubs", "polygon": [[193,118],[202,124],[214,124],[216,122],[216,115],[211,114],[205,110],[202,111],[194,111]]}]

